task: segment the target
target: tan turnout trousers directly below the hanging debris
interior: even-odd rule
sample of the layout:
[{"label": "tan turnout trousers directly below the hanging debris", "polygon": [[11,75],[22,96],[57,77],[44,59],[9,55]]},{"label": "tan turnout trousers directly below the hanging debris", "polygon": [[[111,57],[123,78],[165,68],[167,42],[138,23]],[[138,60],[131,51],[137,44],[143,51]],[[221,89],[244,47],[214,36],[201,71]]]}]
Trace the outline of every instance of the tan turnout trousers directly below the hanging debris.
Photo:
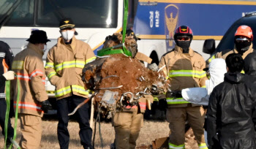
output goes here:
[{"label": "tan turnout trousers directly below the hanging debris", "polygon": [[143,113],[138,113],[138,108],[134,112],[116,112],[113,126],[116,149],[134,149],[143,126]]}]

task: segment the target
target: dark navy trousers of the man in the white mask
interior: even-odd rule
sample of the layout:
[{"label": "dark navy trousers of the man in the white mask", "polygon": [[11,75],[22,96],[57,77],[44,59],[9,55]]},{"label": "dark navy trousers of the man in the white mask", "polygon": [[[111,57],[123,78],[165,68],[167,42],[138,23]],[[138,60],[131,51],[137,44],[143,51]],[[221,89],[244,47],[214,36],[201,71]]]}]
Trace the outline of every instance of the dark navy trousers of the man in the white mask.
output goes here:
[{"label": "dark navy trousers of the man in the white mask", "polygon": [[[57,115],[59,119],[57,131],[61,149],[69,148],[69,131],[67,129],[69,123],[68,114],[84,100],[85,98],[75,95],[57,100]],[[79,136],[81,145],[83,145],[83,148],[92,148],[92,129],[89,124],[89,104],[87,103],[80,107],[78,111],[75,112],[75,116],[80,127]]]}]

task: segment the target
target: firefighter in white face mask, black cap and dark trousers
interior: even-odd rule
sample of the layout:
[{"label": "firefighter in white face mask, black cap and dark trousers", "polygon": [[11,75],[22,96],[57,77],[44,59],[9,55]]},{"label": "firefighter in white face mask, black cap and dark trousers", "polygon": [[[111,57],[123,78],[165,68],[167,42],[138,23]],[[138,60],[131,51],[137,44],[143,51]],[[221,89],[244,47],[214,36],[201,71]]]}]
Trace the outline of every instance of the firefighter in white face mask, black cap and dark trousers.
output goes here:
[{"label": "firefighter in white face mask, black cap and dark trousers", "polygon": [[[89,97],[83,87],[83,66],[96,58],[91,47],[75,38],[75,24],[70,18],[61,20],[61,37],[48,52],[45,72],[50,83],[56,86],[58,140],[60,148],[69,148],[68,113]],[[92,148],[92,129],[89,125],[89,104],[75,113],[80,126],[79,136],[83,148]]]}]

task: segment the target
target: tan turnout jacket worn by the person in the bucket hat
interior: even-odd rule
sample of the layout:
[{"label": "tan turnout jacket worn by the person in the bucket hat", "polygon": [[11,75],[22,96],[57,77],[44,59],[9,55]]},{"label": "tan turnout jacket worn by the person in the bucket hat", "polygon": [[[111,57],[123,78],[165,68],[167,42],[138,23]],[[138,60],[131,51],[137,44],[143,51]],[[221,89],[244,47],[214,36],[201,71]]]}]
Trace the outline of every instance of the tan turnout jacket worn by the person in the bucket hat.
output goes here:
[{"label": "tan turnout jacket worn by the person in the bucket hat", "polygon": [[[12,63],[12,70],[20,80],[20,99],[18,112],[42,117],[40,102],[48,99],[45,91],[45,69],[42,50],[29,43],[25,50],[18,53]],[[16,79],[16,78],[15,78]],[[16,107],[18,82],[11,82],[11,99]]]}]

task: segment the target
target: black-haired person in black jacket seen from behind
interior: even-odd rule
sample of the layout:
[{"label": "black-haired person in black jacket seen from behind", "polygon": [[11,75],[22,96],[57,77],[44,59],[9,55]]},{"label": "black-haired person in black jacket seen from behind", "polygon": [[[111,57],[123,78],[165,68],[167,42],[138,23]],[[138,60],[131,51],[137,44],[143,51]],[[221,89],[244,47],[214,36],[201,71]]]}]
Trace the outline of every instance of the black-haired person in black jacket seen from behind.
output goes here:
[{"label": "black-haired person in black jacket seen from behind", "polygon": [[230,54],[225,61],[224,82],[212,91],[206,114],[208,148],[256,148],[255,88],[240,73],[244,68],[241,55]]}]

